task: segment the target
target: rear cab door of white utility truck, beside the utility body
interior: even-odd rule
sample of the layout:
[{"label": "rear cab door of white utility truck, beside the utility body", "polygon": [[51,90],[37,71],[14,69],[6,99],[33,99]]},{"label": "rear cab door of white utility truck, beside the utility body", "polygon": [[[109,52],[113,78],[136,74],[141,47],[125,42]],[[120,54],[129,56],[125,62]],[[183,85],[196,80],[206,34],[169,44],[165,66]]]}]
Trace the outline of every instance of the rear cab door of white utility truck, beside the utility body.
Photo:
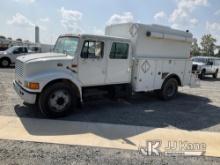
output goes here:
[{"label": "rear cab door of white utility truck, beside the utility body", "polygon": [[130,44],[112,42],[107,57],[106,84],[123,84],[131,82]]}]

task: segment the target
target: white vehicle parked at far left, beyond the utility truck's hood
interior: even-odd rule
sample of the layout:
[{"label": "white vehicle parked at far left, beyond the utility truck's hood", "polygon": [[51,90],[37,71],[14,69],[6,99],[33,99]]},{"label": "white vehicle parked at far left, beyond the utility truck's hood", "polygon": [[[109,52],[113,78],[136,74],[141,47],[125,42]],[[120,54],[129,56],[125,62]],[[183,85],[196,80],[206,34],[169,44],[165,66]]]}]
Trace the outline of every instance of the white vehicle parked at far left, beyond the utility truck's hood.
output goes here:
[{"label": "white vehicle parked at far left, beyond the utility truck's hood", "polygon": [[28,54],[27,47],[23,46],[13,46],[9,49],[2,51],[0,53],[0,66],[9,67],[11,64],[14,64],[16,58],[22,55]]}]

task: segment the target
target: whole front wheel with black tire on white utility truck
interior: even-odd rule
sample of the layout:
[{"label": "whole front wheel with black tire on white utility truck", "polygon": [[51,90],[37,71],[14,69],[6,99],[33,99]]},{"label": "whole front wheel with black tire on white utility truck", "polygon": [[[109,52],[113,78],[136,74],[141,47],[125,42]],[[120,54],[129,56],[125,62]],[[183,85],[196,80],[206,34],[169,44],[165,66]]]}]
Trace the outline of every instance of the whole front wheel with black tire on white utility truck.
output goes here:
[{"label": "whole front wheel with black tire on white utility truck", "polygon": [[66,83],[55,83],[47,87],[39,96],[38,107],[49,118],[69,115],[76,109],[77,97]]}]

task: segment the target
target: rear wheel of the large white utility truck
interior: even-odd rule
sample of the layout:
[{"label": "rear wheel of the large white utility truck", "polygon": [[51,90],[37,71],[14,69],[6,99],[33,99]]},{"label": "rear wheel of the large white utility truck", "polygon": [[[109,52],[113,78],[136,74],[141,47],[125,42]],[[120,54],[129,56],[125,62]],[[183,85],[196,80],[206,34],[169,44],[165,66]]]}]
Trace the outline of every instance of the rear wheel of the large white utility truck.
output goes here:
[{"label": "rear wheel of the large white utility truck", "polygon": [[178,82],[175,78],[167,79],[161,90],[159,91],[159,96],[163,100],[170,100],[176,97],[178,92]]}]

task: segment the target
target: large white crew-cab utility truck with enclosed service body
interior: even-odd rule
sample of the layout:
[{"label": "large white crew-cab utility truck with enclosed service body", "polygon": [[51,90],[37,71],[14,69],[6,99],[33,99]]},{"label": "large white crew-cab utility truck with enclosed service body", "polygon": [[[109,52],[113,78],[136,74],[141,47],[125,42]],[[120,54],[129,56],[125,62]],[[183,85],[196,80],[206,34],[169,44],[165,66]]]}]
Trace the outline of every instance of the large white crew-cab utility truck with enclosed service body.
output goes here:
[{"label": "large white crew-cab utility truck with enclosed service body", "polygon": [[52,53],[19,57],[14,88],[48,117],[67,115],[89,96],[157,91],[176,96],[194,86],[192,34],[136,23],[106,27],[106,35],[62,35]]}]

